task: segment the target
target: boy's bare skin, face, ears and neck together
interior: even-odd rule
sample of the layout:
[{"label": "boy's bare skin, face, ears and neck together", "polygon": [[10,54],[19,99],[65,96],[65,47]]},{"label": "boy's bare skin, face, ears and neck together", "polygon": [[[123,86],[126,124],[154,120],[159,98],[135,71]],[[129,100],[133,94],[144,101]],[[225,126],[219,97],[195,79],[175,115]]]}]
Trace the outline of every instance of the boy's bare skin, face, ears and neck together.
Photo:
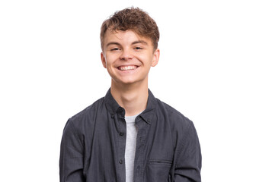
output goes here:
[{"label": "boy's bare skin, face, ears and neck together", "polygon": [[114,33],[107,30],[101,61],[111,77],[110,92],[125,109],[126,116],[146,109],[149,70],[158,64],[159,55],[159,49],[154,50],[147,37],[132,30]]}]

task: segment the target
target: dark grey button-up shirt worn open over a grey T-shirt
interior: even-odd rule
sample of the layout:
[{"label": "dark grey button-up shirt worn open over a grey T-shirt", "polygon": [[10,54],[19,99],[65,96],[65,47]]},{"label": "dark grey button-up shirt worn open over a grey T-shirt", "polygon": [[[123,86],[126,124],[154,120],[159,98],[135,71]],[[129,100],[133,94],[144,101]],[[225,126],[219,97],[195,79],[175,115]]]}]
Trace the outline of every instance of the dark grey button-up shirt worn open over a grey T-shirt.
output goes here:
[{"label": "dark grey button-up shirt worn open over a grey T-shirt", "polygon": [[[125,182],[125,110],[110,90],[69,119],[63,131],[61,182]],[[200,182],[201,152],[189,119],[149,90],[146,110],[136,117],[134,182]]]}]

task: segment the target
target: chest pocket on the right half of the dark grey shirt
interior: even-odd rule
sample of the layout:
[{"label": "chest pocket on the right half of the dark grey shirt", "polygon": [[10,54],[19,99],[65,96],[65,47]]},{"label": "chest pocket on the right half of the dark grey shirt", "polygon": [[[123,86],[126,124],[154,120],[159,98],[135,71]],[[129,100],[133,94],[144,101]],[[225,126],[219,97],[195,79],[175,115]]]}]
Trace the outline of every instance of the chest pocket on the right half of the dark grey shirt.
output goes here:
[{"label": "chest pocket on the right half of the dark grey shirt", "polygon": [[172,162],[169,160],[149,160],[146,165],[147,182],[170,182],[171,176],[169,171]]}]

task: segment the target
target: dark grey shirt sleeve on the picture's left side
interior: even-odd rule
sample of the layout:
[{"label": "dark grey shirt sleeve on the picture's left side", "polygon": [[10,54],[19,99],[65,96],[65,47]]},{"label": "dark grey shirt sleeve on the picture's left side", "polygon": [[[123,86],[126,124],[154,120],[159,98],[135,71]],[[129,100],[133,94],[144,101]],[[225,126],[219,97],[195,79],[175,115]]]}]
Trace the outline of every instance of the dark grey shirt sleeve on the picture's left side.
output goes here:
[{"label": "dark grey shirt sleeve on the picture's left side", "polygon": [[83,174],[84,147],[72,121],[68,121],[62,135],[59,158],[60,182],[85,182]]}]

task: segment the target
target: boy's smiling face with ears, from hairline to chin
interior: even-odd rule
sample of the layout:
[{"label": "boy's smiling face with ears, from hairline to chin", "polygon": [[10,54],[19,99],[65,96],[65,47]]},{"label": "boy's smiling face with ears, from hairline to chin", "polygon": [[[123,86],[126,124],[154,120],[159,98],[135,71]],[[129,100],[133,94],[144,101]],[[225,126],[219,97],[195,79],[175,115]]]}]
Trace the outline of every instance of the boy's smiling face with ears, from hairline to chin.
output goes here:
[{"label": "boy's smiling face with ears, from hairline to chin", "polygon": [[132,30],[107,30],[104,36],[101,61],[116,83],[147,83],[150,67],[158,64],[158,58],[159,49],[154,51],[151,39]]}]

